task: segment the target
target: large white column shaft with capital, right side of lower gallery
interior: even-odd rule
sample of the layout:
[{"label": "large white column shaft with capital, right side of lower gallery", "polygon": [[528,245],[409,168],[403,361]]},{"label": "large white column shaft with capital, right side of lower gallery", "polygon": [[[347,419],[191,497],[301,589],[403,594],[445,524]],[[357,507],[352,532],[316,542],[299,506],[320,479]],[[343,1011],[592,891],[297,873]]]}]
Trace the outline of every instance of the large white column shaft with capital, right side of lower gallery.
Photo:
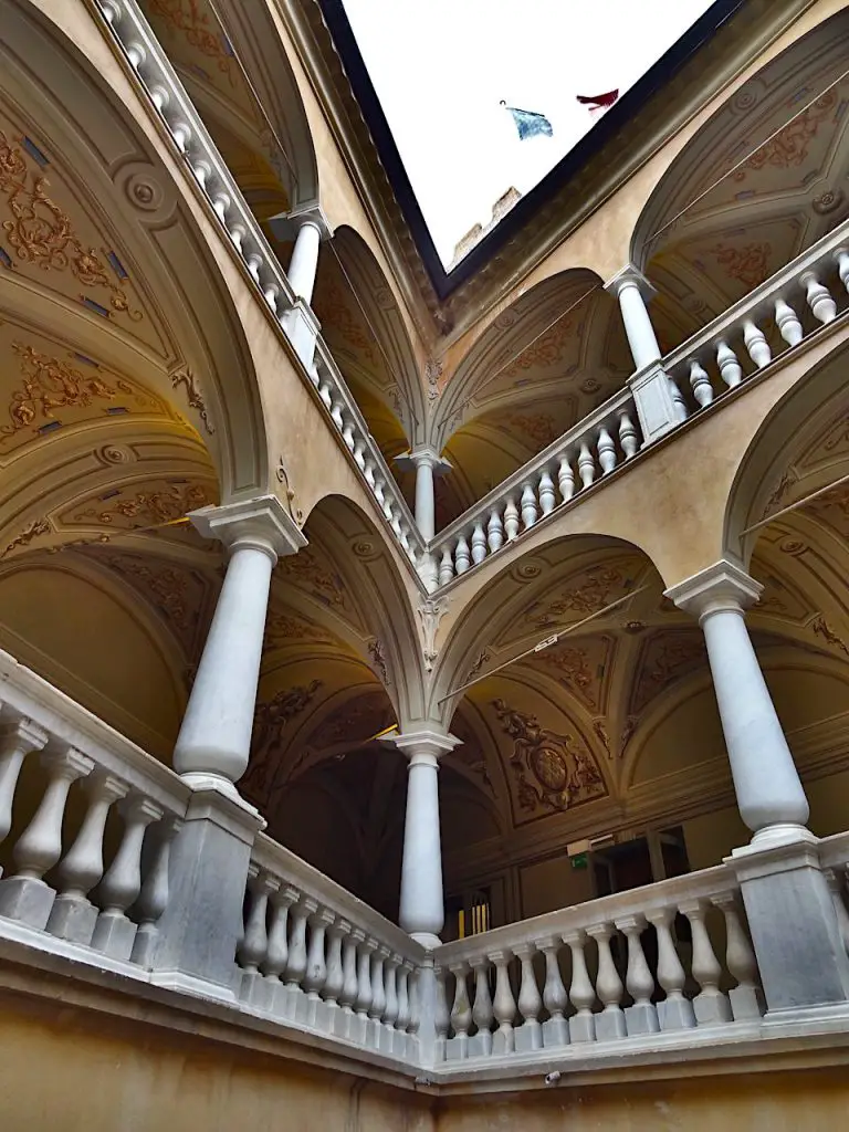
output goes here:
[{"label": "large white column shaft with capital, right side of lower gallery", "polygon": [[748,635],[745,610],[763,588],[719,561],[667,591],[698,617],[740,816],[755,841],[795,838],[808,804]]}]

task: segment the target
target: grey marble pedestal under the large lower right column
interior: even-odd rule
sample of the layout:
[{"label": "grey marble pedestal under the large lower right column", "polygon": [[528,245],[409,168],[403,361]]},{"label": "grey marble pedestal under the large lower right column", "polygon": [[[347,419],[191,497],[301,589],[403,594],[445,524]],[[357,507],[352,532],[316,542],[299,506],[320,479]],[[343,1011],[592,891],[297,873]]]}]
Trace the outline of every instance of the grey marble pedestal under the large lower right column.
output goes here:
[{"label": "grey marble pedestal under the large lower right column", "polygon": [[726,864],[740,883],[769,1010],[846,1002],[849,959],[814,834],[770,826]]}]

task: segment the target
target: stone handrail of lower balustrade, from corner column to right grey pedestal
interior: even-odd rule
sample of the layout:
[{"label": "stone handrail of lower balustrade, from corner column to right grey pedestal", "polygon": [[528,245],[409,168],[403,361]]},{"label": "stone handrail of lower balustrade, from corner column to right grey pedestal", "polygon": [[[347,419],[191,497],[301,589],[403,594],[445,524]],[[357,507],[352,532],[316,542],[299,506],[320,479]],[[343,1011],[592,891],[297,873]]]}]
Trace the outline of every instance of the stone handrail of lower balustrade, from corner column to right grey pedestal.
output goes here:
[{"label": "stone handrail of lower balustrade, from corner column to right grey pedestal", "polygon": [[469,962],[488,951],[512,951],[532,941],[559,938],[564,933],[580,928],[612,923],[634,914],[645,915],[676,901],[702,900],[737,890],[738,883],[732,871],[726,865],[717,865],[445,943],[435,950],[434,960],[440,967]]}]

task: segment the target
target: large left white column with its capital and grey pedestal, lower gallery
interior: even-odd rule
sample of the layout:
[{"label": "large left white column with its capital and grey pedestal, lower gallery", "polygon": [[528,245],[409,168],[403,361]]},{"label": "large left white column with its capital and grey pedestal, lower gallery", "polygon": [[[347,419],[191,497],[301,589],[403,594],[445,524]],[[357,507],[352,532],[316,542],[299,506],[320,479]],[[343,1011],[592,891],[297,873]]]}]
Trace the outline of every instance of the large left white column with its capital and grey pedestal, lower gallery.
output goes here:
[{"label": "large left white column with its capital and grey pedestal, lower gallery", "polygon": [[204,507],[191,520],[224,542],[229,563],[174,749],[194,794],[171,850],[153,977],[187,989],[200,980],[230,998],[250,850],[265,824],[235,782],[248,765],[272,571],[307,540],[275,496]]}]

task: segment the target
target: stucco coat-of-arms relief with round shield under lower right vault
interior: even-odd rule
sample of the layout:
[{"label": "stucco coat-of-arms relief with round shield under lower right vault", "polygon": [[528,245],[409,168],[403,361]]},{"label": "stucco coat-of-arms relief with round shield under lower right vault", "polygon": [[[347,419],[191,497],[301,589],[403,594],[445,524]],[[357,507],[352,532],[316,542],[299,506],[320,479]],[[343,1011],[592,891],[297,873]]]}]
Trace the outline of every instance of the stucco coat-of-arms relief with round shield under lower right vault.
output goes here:
[{"label": "stucco coat-of-arms relief with round shield under lower right vault", "polygon": [[601,772],[573,735],[557,735],[540,726],[535,715],[494,700],[501,730],[513,739],[511,767],[523,809],[539,805],[568,809],[604,794]]}]

